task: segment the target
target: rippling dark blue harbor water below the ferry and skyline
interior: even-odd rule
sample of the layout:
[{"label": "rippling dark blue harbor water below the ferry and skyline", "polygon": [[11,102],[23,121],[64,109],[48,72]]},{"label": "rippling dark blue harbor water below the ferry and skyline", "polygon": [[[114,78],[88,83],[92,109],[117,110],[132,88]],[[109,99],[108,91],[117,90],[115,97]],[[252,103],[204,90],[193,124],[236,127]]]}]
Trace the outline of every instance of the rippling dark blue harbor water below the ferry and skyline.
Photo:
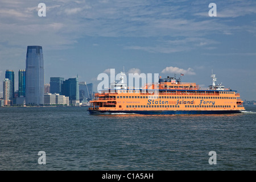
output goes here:
[{"label": "rippling dark blue harbor water below the ferry and skyline", "polygon": [[[0,108],[0,170],[255,170],[256,107],[228,115]],[[39,165],[39,151],[46,165]],[[210,165],[209,151],[217,164]]]}]

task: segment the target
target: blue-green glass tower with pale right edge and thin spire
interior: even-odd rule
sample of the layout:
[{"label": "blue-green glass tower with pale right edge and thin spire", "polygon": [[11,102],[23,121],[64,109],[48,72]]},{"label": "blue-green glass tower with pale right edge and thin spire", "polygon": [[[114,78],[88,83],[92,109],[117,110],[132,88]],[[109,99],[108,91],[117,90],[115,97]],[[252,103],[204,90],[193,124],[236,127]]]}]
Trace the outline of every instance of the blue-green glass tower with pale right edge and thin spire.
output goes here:
[{"label": "blue-green glass tower with pale right edge and thin spire", "polygon": [[61,94],[69,97],[69,101],[73,105],[79,105],[79,82],[78,77],[69,78],[68,80],[63,81],[61,85]]}]

